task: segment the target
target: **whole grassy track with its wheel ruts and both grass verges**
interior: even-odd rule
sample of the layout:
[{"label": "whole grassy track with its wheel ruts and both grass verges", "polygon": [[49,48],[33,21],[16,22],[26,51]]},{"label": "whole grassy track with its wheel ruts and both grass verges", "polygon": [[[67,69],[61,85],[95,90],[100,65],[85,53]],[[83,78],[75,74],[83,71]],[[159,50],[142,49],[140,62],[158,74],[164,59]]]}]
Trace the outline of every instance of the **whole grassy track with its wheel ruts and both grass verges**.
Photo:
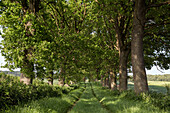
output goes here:
[{"label": "whole grassy track with its wheel ruts and both grass verges", "polygon": [[[1,111],[0,111],[1,113]],[[81,84],[67,95],[43,98],[20,104],[2,113],[170,113],[157,107],[128,99],[124,93],[102,88],[96,83]]]}]

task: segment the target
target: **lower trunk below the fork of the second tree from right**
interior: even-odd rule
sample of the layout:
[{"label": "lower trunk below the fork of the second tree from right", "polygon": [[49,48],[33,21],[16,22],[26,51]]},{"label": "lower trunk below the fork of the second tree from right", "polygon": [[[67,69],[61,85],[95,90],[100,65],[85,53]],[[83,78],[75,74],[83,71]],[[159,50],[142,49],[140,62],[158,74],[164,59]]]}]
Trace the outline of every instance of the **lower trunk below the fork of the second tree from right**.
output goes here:
[{"label": "lower trunk below the fork of the second tree from right", "polygon": [[129,50],[120,50],[119,53],[119,91],[127,90],[127,61]]}]

